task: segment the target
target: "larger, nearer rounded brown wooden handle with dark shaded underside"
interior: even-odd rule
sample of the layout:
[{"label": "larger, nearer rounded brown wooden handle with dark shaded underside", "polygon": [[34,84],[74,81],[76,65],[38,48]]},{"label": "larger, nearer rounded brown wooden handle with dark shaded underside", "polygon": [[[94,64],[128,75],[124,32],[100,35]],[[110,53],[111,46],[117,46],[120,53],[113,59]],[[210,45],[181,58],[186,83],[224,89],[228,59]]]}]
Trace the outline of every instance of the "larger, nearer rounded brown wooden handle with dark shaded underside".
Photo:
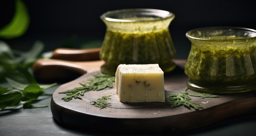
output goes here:
[{"label": "larger, nearer rounded brown wooden handle with dark shaded underside", "polygon": [[35,78],[39,82],[67,82],[79,76],[100,72],[104,61],[61,61],[55,59],[40,59],[33,65]]}]

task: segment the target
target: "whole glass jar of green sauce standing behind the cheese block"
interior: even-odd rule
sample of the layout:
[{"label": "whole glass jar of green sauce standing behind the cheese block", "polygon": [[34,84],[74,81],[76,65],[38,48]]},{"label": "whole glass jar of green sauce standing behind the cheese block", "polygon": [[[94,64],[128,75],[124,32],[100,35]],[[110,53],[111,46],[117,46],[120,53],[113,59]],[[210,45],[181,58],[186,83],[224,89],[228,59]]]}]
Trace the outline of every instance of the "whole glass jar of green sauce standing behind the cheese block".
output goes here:
[{"label": "whole glass jar of green sauce standing behind the cheese block", "polygon": [[168,26],[175,18],[158,9],[121,9],[100,16],[106,24],[100,58],[101,70],[114,75],[119,64],[159,64],[164,72],[175,69],[176,51]]}]

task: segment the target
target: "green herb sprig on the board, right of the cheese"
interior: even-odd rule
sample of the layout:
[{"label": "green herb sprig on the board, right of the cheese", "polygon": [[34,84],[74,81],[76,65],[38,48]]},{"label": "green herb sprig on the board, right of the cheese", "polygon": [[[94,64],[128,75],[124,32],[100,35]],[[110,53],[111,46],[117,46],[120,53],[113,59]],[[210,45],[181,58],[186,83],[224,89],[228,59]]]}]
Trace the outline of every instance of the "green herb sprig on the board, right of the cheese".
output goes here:
[{"label": "green herb sprig on the board, right of the cheese", "polygon": [[188,109],[193,108],[195,110],[199,110],[202,109],[203,107],[201,107],[200,104],[197,103],[193,103],[191,102],[191,98],[189,96],[195,96],[195,97],[201,97],[201,98],[217,98],[219,97],[218,95],[212,95],[212,94],[207,94],[207,93],[188,93],[187,90],[189,88],[187,88],[185,90],[185,92],[182,93],[176,93],[176,94],[170,94],[169,97],[169,105],[171,106],[171,108],[174,107],[179,107],[179,106],[185,106]]}]

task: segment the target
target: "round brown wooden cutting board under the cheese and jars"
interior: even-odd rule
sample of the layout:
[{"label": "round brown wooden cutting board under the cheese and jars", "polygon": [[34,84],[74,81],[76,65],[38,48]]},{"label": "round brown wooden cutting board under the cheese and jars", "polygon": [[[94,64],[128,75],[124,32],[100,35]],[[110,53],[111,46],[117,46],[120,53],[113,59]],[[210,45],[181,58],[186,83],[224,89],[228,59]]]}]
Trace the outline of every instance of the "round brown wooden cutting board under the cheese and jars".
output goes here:
[{"label": "round brown wooden cutting board under the cheese and jars", "polygon": [[[176,69],[164,75],[166,100],[168,100],[168,94],[184,92],[187,88],[188,77],[184,74],[186,61],[176,60],[175,63]],[[90,65],[90,62],[86,65]],[[94,67],[90,69],[99,72],[101,65],[102,61],[94,62]],[[119,101],[115,87],[101,91],[89,91],[84,93],[82,100],[73,99],[67,102],[61,99],[65,94],[59,94],[60,92],[80,87],[80,82],[91,77],[91,73],[86,73],[55,90],[51,100],[51,111],[57,122],[94,132],[97,130],[122,133],[131,131],[174,132],[204,126],[234,116],[256,113],[256,91],[219,94],[220,98],[203,99],[191,96],[192,102],[204,107],[198,111],[189,110],[183,106],[172,109],[167,101],[165,103],[122,103]],[[198,93],[192,90],[188,92]],[[111,107],[101,110],[90,104],[90,101],[96,101],[104,95],[112,95]]]}]

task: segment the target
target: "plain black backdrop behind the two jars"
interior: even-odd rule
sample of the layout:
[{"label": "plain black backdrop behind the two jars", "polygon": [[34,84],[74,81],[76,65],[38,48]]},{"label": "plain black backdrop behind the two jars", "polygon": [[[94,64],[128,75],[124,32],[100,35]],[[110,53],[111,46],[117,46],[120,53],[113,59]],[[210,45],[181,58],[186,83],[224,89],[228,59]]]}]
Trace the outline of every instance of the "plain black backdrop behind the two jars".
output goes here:
[{"label": "plain black backdrop behind the two jars", "polygon": [[[173,12],[169,26],[176,58],[187,58],[190,42],[185,33],[207,26],[239,26],[256,29],[256,5],[249,0],[24,0],[30,14],[25,35],[4,40],[14,49],[26,51],[35,40],[41,40],[44,51],[61,47],[75,36],[75,48],[81,43],[101,41],[105,24],[99,16],[104,12],[126,8],[151,8]],[[0,2],[0,27],[9,23],[15,10],[14,0]],[[100,44],[100,42],[95,42]]]}]

